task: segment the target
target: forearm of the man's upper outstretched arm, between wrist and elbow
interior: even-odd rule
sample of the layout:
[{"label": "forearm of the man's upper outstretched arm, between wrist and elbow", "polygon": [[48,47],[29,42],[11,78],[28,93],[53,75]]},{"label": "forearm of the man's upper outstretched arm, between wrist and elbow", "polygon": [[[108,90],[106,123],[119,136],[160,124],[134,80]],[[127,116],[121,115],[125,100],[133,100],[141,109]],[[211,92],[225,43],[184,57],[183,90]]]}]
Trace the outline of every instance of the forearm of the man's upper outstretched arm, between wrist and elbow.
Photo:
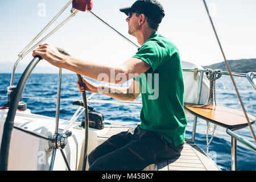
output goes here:
[{"label": "forearm of the man's upper outstretched arm, between wrist and elbow", "polygon": [[112,82],[114,84],[121,81],[115,79],[118,74],[119,77],[126,77],[126,71],[121,67],[92,63],[90,61],[75,59],[71,56],[65,57],[61,67],[80,75],[93,78],[94,80]]}]

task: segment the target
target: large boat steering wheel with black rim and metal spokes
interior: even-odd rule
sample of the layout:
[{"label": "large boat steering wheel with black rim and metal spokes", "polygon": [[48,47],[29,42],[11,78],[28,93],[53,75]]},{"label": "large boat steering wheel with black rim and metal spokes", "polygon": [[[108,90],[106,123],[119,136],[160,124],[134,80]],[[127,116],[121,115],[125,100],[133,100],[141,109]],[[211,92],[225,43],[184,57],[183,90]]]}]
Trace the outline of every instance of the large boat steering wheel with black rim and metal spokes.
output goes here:
[{"label": "large boat steering wheel with black rim and metal spokes", "polygon": [[[64,49],[57,48],[60,53],[63,53],[64,55],[69,55]],[[5,125],[3,127],[3,137],[1,142],[1,152],[0,152],[0,170],[6,171],[8,166],[8,158],[9,158],[9,147],[10,147],[10,140],[11,140],[11,131],[13,128],[23,131],[27,134],[33,135],[35,137],[48,140],[50,142],[50,146],[53,149],[52,150],[52,156],[51,156],[51,163],[49,164],[49,170],[52,171],[53,164],[55,161],[56,156],[56,150],[59,149],[61,152],[61,155],[63,156],[65,165],[68,170],[71,170],[68,164],[68,160],[65,157],[65,154],[63,152],[63,149],[65,148],[67,144],[67,138],[71,137],[72,133],[71,131],[68,131],[68,128],[72,125],[73,122],[79,117],[72,117],[71,123],[69,126],[66,127],[61,133],[59,133],[59,106],[57,104],[56,109],[56,126],[55,126],[55,134],[53,137],[47,137],[46,135],[38,134],[33,131],[27,131],[25,129],[22,129],[20,127],[14,126],[14,118],[16,114],[16,110],[18,109],[18,103],[20,101],[20,98],[22,98],[23,90],[27,84],[27,80],[30,77],[33,69],[36,67],[36,65],[39,63],[39,61],[42,60],[42,57],[35,56],[34,59],[30,62],[30,64],[27,66],[26,70],[23,72],[22,76],[20,77],[20,80],[18,82],[18,85],[16,86],[13,94],[13,98],[11,100],[11,104],[9,107],[9,111],[7,113]],[[81,75],[77,74],[77,77],[79,79],[80,85],[83,84]],[[57,102],[60,103],[60,89],[61,89],[61,69],[60,69],[60,75],[59,75],[59,85],[58,85],[58,94],[57,94]],[[84,111],[84,117],[85,117],[85,144],[84,144],[84,156],[83,156],[83,164],[82,164],[82,170],[85,170],[86,167],[86,161],[87,161],[87,153],[88,153],[88,129],[89,129],[89,121],[88,121],[88,105],[86,100],[86,93],[85,91],[82,93],[82,99],[84,101],[84,108],[82,112]],[[79,111],[78,111],[79,112]],[[76,114],[78,114],[78,112]],[[81,115],[82,113],[80,113]]]}]

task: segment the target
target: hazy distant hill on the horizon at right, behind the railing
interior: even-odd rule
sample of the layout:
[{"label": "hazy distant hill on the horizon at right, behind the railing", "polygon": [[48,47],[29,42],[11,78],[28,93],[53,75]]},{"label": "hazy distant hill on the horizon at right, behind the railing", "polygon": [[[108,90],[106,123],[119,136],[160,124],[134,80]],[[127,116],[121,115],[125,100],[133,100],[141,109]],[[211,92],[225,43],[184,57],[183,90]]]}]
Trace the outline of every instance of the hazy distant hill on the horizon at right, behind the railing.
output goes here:
[{"label": "hazy distant hill on the horizon at right, behind the railing", "polygon": [[[229,67],[232,72],[248,73],[256,72],[256,59],[240,59],[240,60],[228,60]],[[205,69],[221,69],[222,71],[228,71],[226,69],[225,62],[216,63],[208,66],[203,66]]]}]

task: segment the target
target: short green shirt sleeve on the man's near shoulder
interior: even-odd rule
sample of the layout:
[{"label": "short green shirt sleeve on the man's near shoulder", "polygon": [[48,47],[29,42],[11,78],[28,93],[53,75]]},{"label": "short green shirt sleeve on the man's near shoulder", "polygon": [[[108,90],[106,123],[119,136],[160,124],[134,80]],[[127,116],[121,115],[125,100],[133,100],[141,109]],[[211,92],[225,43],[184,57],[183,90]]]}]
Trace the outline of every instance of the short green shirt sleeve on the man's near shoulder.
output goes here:
[{"label": "short green shirt sleeve on the man's near shoulder", "polygon": [[159,48],[153,43],[144,44],[139,51],[133,56],[143,60],[152,68],[153,72],[160,64]]}]

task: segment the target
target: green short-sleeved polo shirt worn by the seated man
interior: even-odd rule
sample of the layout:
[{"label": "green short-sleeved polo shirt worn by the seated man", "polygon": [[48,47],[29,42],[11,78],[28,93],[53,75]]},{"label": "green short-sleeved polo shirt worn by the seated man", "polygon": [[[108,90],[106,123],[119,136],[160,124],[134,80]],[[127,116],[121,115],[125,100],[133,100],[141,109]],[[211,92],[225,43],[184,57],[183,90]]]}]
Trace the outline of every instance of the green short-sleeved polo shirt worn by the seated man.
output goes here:
[{"label": "green short-sleeved polo shirt worn by the seated man", "polygon": [[134,78],[141,87],[141,129],[155,131],[175,146],[184,143],[187,119],[183,110],[184,84],[178,49],[156,31],[133,57],[151,67]]}]

